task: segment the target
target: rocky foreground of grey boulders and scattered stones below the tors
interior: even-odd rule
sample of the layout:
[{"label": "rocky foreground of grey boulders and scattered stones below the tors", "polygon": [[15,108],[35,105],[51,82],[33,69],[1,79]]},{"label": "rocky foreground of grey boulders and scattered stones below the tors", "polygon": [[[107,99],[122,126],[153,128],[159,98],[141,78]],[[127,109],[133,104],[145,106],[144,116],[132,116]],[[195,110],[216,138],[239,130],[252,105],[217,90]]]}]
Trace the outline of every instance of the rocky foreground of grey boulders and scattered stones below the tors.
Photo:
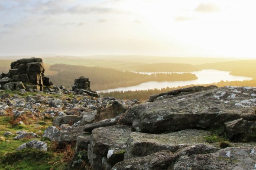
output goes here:
[{"label": "rocky foreground of grey boulders and scattered stones below the tors", "polygon": [[[256,169],[256,88],[197,86],[148,102],[50,91],[0,91],[0,115],[21,127],[0,131],[2,143],[29,139],[13,153],[75,144],[70,170]],[[51,126],[24,130],[42,122]]]}]

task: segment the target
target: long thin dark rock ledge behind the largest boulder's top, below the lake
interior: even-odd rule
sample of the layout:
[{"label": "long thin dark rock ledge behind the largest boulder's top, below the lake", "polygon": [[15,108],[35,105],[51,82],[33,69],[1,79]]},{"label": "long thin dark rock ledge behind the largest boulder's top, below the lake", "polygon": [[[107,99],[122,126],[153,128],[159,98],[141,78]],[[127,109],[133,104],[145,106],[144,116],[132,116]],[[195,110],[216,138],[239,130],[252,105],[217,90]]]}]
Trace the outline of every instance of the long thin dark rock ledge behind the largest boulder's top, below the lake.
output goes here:
[{"label": "long thin dark rock ledge behind the largest boulder's top, below the lake", "polygon": [[184,96],[184,95],[196,93],[199,91],[207,91],[207,90],[212,90],[212,89],[217,89],[217,88],[218,87],[216,85],[210,85],[207,87],[193,86],[193,87],[188,87],[188,88],[180,88],[177,90],[167,91],[167,92],[160,93],[160,94],[153,94],[149,97],[148,102],[160,101],[160,100],[165,100],[168,98],[175,98],[177,96]]}]

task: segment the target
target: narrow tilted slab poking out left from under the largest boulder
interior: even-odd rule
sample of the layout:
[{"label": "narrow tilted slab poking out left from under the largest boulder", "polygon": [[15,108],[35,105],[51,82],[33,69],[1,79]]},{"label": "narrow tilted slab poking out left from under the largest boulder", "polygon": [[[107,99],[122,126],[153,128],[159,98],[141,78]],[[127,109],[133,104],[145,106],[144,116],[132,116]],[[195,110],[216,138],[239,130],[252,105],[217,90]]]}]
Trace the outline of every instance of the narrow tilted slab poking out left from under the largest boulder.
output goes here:
[{"label": "narrow tilted slab poking out left from under the largest boulder", "polygon": [[114,126],[114,125],[117,125],[117,124],[127,125],[126,123],[119,122],[119,120],[121,119],[121,117],[123,115],[124,114],[121,114],[119,116],[114,117],[113,119],[106,119],[106,120],[101,120],[101,121],[96,122],[96,123],[87,124],[87,125],[84,126],[84,131],[85,132],[91,132],[93,129],[97,129],[97,128],[100,128],[100,127],[106,127],[106,126]]}]

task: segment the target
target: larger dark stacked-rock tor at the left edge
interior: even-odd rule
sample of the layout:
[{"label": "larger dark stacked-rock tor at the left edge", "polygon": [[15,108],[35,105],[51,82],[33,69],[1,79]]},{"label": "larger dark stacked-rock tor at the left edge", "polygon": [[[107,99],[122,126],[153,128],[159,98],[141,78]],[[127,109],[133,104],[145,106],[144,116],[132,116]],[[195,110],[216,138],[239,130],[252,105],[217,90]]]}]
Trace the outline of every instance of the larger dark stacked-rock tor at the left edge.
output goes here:
[{"label": "larger dark stacked-rock tor at the left edge", "polygon": [[[0,74],[0,88],[5,90],[36,89],[52,85],[44,76],[45,66],[41,58],[23,58],[11,63],[9,72]],[[23,85],[23,83],[26,83]]]}]

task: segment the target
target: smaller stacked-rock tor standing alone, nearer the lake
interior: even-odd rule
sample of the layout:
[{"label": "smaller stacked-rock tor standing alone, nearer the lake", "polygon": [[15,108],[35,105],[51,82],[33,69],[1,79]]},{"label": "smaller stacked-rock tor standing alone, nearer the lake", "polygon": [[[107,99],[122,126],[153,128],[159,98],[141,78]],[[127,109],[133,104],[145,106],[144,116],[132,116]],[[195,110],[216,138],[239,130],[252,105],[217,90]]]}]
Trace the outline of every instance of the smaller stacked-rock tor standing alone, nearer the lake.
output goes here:
[{"label": "smaller stacked-rock tor standing alone, nearer the lake", "polygon": [[91,91],[90,80],[84,76],[75,79],[75,84],[72,86],[72,91],[75,91],[77,94],[88,94],[92,97],[99,97],[96,91]]}]

